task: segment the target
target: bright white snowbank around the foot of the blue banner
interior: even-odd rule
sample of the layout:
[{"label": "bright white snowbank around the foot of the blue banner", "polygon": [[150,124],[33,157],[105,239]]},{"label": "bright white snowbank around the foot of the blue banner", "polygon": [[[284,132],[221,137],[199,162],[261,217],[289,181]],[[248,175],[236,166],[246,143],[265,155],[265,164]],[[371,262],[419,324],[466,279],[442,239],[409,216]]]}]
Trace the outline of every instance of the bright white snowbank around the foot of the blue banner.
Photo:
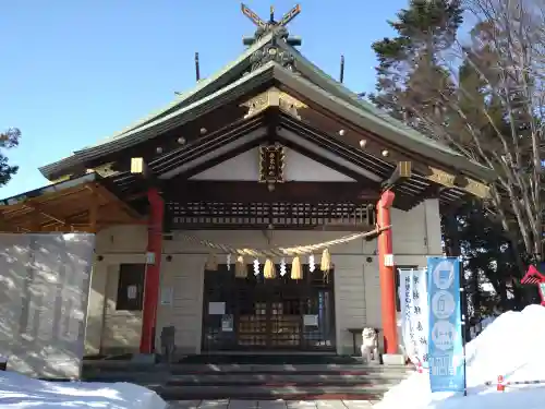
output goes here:
[{"label": "bright white snowbank around the foot of the blue banner", "polygon": [[[507,312],[467,345],[468,396],[429,390],[429,374],[415,373],[391,388],[375,409],[482,409],[545,407],[545,308]],[[543,380],[543,385],[507,386],[496,390],[498,375],[507,382]],[[493,382],[486,386],[486,382]]]}]

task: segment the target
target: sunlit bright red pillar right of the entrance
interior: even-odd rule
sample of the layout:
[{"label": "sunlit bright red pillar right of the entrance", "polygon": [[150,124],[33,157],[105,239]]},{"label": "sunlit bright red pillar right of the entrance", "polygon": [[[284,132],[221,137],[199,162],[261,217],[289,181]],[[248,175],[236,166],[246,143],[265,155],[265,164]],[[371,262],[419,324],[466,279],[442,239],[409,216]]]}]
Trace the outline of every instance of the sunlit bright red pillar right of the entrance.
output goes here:
[{"label": "sunlit bright red pillar right of the entrance", "polygon": [[[386,191],[377,203],[378,227],[391,225],[390,207],[396,195]],[[392,254],[391,229],[378,236],[378,273],[380,276],[380,308],[383,315],[383,334],[385,353],[398,352],[398,325],[396,311],[396,276],[393,266],[387,267],[386,254]]]}]

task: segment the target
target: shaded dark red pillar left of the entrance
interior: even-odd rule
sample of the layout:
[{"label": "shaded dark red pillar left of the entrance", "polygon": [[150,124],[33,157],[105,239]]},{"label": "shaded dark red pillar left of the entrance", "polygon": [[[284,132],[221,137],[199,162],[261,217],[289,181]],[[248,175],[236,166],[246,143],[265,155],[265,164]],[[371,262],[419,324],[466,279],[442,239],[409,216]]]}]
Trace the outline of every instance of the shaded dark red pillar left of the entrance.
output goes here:
[{"label": "shaded dark red pillar left of the entrance", "polygon": [[144,310],[142,312],[141,353],[153,353],[155,322],[159,303],[159,282],[162,253],[162,215],[165,203],[156,188],[147,191],[149,202],[149,221],[147,232],[147,252],[154,253],[155,263],[148,264],[144,280]]}]

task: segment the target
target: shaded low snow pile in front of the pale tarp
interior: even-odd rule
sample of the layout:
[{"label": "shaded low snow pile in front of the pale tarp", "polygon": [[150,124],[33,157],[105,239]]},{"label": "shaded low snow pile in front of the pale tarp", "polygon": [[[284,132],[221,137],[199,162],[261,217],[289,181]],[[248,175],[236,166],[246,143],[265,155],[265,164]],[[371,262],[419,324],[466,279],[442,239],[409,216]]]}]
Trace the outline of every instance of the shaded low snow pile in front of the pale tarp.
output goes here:
[{"label": "shaded low snow pile in front of the pale tarp", "polygon": [[165,409],[153,390],[128,383],[45,382],[0,372],[0,409]]}]

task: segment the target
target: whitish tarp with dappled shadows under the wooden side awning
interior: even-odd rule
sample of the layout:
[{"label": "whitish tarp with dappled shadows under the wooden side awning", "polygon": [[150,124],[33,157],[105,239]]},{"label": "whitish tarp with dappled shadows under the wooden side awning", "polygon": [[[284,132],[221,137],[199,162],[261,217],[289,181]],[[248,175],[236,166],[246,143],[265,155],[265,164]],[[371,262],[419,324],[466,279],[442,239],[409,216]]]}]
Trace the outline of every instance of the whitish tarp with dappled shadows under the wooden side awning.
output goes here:
[{"label": "whitish tarp with dappled shadows under the wooden side awning", "polygon": [[35,377],[78,378],[95,236],[0,234],[0,354]]}]

